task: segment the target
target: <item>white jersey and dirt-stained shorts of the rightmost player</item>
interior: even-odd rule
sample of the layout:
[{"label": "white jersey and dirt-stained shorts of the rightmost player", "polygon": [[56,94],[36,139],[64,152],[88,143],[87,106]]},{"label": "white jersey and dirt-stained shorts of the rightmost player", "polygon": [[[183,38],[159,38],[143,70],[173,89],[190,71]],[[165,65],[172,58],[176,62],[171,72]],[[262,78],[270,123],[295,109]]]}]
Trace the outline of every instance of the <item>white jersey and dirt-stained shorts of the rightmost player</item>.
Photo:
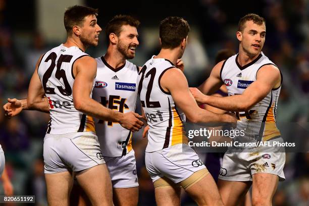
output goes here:
[{"label": "white jersey and dirt-stained shorts of the rightmost player", "polygon": [[[227,59],[221,68],[221,79],[229,95],[242,94],[256,80],[256,73],[266,65],[274,65],[263,53],[247,65],[240,66],[238,54]],[[277,67],[277,66],[276,66]],[[282,81],[282,76],[281,76]],[[249,111],[237,112],[237,130],[245,131],[244,136],[234,137],[238,142],[282,142],[280,131],[276,126],[277,102],[281,85],[272,89],[267,96],[250,108]],[[270,144],[272,145],[272,144]],[[284,179],[283,167],[285,153],[277,148],[253,147],[233,148],[226,152],[219,179],[230,181],[252,181],[255,173],[270,173]]]}]

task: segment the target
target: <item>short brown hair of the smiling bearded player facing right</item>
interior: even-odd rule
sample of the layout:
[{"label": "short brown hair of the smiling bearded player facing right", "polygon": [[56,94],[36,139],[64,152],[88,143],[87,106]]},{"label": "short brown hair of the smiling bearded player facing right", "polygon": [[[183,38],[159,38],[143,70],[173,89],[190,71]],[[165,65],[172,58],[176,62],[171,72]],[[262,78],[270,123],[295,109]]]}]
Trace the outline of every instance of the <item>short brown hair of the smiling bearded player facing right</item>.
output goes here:
[{"label": "short brown hair of the smiling bearded player facing right", "polygon": [[105,33],[106,37],[109,40],[110,34],[115,33],[117,36],[120,35],[121,27],[123,25],[130,25],[134,27],[138,27],[140,22],[132,16],[129,15],[116,15],[114,16],[106,25]]}]

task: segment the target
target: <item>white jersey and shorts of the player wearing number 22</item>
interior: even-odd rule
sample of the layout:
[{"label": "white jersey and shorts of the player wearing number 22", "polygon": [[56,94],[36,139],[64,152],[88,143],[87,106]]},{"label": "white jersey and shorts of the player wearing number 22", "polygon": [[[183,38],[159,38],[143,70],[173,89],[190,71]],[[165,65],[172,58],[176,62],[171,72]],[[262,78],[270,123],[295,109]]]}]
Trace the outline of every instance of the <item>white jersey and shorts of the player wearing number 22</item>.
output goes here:
[{"label": "white jersey and shorts of the player wearing number 22", "polygon": [[170,61],[152,57],[142,67],[137,81],[149,125],[145,164],[153,182],[167,177],[179,183],[205,168],[187,144],[185,115],[177,108],[172,95],[160,85],[161,77],[171,68],[175,66]]}]

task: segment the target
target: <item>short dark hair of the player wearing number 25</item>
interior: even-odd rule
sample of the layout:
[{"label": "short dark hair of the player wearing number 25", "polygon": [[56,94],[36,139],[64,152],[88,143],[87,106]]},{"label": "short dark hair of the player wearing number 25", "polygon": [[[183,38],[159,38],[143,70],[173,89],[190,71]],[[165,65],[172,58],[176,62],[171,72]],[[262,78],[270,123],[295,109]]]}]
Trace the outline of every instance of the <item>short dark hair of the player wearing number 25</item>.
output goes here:
[{"label": "short dark hair of the player wearing number 25", "polygon": [[78,5],[69,7],[64,14],[64,25],[67,34],[72,34],[74,26],[83,26],[84,18],[89,15],[96,17],[98,15],[98,10]]}]

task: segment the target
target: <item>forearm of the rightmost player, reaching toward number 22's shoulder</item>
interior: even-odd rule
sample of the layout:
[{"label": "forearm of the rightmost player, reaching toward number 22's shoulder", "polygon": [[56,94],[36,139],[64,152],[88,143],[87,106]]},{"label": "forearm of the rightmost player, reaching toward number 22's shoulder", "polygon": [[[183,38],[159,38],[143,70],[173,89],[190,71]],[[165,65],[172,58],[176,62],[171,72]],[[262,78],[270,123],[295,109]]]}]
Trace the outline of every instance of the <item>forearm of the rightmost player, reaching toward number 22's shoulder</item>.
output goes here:
[{"label": "forearm of the rightmost player, reaching toward number 22's shoulder", "polygon": [[249,99],[243,95],[233,95],[226,97],[205,95],[203,96],[202,103],[231,112],[247,111],[252,107]]}]

